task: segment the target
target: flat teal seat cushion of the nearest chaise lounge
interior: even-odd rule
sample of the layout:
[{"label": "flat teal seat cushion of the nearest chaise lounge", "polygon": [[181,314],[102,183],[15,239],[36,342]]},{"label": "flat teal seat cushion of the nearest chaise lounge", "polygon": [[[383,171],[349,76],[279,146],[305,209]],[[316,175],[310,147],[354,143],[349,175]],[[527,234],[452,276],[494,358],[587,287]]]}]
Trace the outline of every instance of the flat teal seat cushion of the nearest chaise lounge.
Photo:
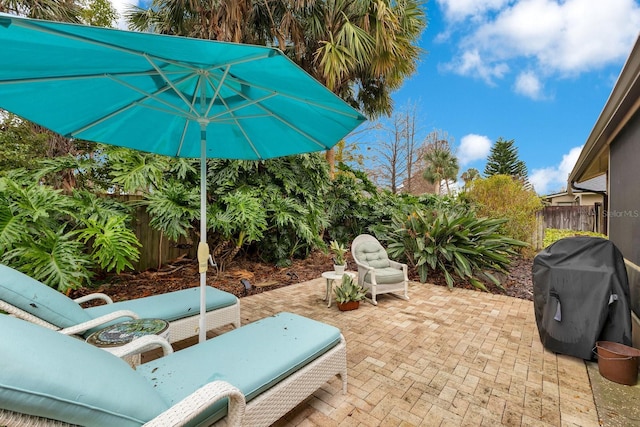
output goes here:
[{"label": "flat teal seat cushion of the nearest chaise lounge", "polygon": [[[339,342],[340,330],[336,327],[296,314],[279,313],[144,363],[136,370],[170,404],[215,380],[233,384],[249,402]],[[221,401],[206,421],[214,422],[226,411],[226,401]]]}]

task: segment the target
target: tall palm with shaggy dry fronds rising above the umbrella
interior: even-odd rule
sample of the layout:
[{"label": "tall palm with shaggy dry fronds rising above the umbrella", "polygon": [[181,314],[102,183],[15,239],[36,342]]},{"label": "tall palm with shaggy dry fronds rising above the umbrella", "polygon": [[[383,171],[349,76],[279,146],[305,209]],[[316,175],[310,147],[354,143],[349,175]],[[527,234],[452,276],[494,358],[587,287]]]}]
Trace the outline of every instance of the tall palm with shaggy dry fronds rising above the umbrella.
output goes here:
[{"label": "tall palm with shaggy dry fronds rising above the umbrella", "polygon": [[[416,69],[426,26],[419,0],[215,3],[154,0],[129,26],[164,34],[276,46],[370,117],[391,114],[391,92]],[[327,152],[333,170],[333,150]]]}]

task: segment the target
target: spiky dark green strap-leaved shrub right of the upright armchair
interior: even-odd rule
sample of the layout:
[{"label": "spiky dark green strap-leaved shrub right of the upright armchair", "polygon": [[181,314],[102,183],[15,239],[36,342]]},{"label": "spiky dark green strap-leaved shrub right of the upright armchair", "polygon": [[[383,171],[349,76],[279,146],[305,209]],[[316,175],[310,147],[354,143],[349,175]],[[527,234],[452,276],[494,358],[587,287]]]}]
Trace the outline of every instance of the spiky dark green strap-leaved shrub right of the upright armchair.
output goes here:
[{"label": "spiky dark green strap-leaved shrub right of the upright armchair", "polygon": [[416,211],[395,220],[387,236],[389,256],[406,260],[423,283],[434,270],[444,275],[449,288],[454,284],[452,273],[483,290],[479,275],[501,287],[491,272],[506,272],[514,248],[526,245],[499,233],[505,221],[476,218],[460,208]]}]

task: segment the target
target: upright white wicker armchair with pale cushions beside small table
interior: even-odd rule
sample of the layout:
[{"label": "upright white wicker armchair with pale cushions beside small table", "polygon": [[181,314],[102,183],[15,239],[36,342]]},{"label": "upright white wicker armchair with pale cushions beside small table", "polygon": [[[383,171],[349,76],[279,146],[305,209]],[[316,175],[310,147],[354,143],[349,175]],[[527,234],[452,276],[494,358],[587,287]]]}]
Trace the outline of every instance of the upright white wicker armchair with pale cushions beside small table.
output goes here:
[{"label": "upright white wicker armchair with pale cushions beside small table", "polygon": [[378,305],[377,296],[387,293],[409,299],[407,265],[390,260],[378,239],[359,235],[351,243],[351,254],[358,266],[358,284],[371,294],[369,302]]}]

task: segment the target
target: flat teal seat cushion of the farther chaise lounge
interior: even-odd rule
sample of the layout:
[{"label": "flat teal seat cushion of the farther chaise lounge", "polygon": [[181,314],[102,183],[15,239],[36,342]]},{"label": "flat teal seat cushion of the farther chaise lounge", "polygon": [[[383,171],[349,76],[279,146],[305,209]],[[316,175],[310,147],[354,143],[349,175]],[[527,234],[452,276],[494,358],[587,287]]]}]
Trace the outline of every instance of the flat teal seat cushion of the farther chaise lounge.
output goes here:
[{"label": "flat teal seat cushion of the farther chaise lounge", "polygon": [[[238,302],[235,295],[221,291],[211,286],[206,288],[207,311],[228,307]],[[116,310],[131,310],[141,318],[164,319],[167,322],[197,316],[200,313],[200,288],[189,288],[165,294],[153,295],[145,298],[137,298],[128,301],[119,301],[113,304],[88,307],[85,311],[91,318],[100,317]],[[120,320],[122,321],[122,320]],[[111,322],[115,323],[115,322]],[[90,334],[102,329],[108,324],[87,332]]]}]

